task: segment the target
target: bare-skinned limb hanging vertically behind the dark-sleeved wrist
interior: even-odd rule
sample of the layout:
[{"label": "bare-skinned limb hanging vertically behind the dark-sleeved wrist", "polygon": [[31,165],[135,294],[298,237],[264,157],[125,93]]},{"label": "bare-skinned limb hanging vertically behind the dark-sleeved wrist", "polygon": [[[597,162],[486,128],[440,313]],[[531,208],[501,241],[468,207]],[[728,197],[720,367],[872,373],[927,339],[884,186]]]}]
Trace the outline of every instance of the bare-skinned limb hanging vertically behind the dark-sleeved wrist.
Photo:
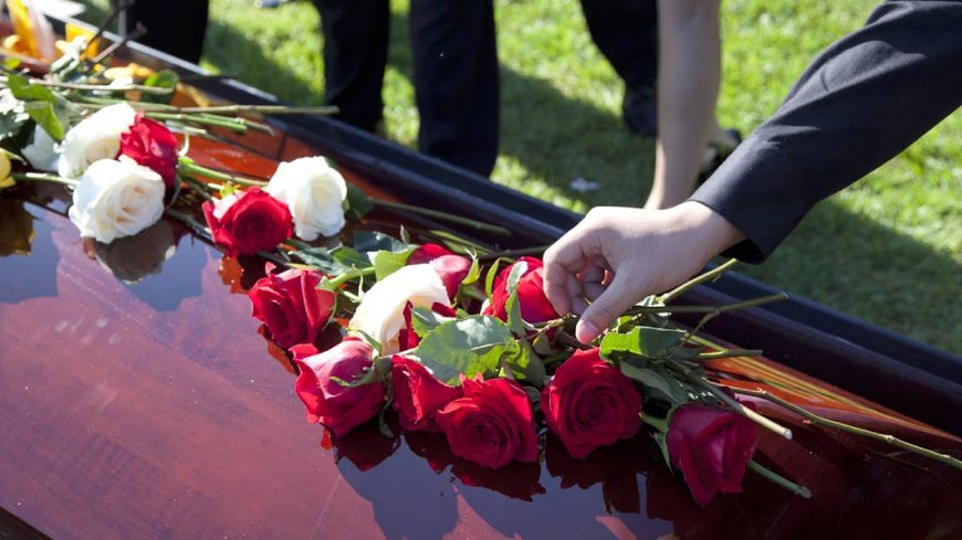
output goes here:
[{"label": "bare-skinned limb hanging vertically behind the dark-sleeved wrist", "polygon": [[717,0],[659,0],[658,141],[646,208],[691,194],[709,138],[721,74]]}]

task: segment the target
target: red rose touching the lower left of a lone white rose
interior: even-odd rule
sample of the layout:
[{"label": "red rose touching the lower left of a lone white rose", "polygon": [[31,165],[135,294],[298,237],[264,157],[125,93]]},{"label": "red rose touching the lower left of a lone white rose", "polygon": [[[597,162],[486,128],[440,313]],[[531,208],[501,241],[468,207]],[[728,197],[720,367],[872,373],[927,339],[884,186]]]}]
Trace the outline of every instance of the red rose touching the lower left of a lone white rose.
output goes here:
[{"label": "red rose touching the lower left of a lone white rose", "polygon": [[294,233],[287,205],[260,188],[205,201],[202,208],[213,241],[224,247],[229,257],[273,251]]}]

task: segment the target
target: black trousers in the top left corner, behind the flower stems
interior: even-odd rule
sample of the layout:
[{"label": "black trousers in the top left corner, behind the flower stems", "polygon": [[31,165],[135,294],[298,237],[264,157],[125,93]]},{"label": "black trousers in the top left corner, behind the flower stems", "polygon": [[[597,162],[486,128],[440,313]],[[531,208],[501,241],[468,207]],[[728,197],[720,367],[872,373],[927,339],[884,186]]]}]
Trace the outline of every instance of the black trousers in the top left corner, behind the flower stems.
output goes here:
[{"label": "black trousers in the top left corner, behind the flower stems", "polygon": [[[116,7],[118,0],[111,0]],[[137,39],[149,47],[191,63],[200,61],[207,30],[208,0],[135,0],[126,11],[132,32],[140,23],[147,33]]]}]

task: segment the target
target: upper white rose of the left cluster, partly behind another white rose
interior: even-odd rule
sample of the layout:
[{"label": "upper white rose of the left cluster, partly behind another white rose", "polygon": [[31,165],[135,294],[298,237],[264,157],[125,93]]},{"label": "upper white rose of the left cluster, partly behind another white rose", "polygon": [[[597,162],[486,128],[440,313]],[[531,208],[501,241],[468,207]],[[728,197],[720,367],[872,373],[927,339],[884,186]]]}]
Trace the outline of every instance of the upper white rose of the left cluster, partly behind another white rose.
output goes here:
[{"label": "upper white rose of the left cluster, partly behind another white rose", "polygon": [[121,135],[134,124],[136,116],[133,107],[118,103],[97,110],[72,127],[61,144],[60,176],[77,178],[94,161],[117,157]]}]

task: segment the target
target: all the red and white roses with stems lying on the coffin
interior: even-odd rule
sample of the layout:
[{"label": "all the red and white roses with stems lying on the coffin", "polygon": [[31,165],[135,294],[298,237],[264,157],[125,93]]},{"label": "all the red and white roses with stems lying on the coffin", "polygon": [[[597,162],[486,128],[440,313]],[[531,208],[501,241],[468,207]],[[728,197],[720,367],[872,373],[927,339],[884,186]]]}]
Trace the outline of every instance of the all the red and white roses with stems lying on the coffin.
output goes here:
[{"label": "all the red and white roses with stems lying on the coffin", "polygon": [[[81,44],[44,78],[7,66],[0,188],[66,184],[71,221],[102,245],[143,233],[166,213],[208,236],[226,257],[269,260],[248,292],[252,316],[289,356],[307,420],[334,437],[375,419],[391,432],[386,416],[396,415],[406,433],[440,434],[457,458],[500,469],[537,462],[545,432],[573,459],[586,459],[644,431],[699,505],[740,491],[749,468],[808,495],[753,459],[757,426],[786,438],[791,431],[744,404],[741,390],[704,366],[759,351],[711,349],[697,339],[711,317],[781,296],[671,305],[729,266],[722,265],[645,299],[597,342],[578,343],[572,318],[556,314],[544,295],[540,260],[521,257],[502,268],[496,256],[482,264],[479,246],[454,239],[448,246],[411,243],[404,231],[400,239],[358,233],[349,245],[320,245],[316,240],[341,233],[346,212],[360,218],[373,202],[386,203],[347,184],[323,157],[280,163],[269,181],[199,166],[189,157],[191,137],[211,136],[211,126],[257,125],[221,108],[104,97],[130,89],[169,97],[176,80],[154,74],[136,87],[109,86],[98,80],[102,59],[87,59],[85,50]],[[9,172],[10,159],[34,171]],[[682,310],[704,317],[682,328],[670,319]],[[342,339],[324,345],[332,328]],[[962,468],[951,456],[832,425]]]}]

